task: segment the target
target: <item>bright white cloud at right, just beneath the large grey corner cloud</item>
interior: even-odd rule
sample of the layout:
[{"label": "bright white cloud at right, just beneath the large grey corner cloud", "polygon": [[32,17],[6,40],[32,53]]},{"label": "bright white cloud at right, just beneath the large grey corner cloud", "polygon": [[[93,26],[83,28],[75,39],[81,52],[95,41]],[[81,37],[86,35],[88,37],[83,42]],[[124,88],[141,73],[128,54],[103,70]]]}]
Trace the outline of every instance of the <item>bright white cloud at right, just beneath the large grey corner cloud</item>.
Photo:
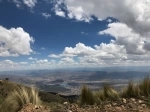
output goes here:
[{"label": "bright white cloud at right, just beneath the large grey corner cloud", "polygon": [[144,54],[145,37],[129,28],[123,23],[110,23],[108,29],[99,32],[100,35],[108,34],[116,38],[115,44],[123,45],[129,54]]}]

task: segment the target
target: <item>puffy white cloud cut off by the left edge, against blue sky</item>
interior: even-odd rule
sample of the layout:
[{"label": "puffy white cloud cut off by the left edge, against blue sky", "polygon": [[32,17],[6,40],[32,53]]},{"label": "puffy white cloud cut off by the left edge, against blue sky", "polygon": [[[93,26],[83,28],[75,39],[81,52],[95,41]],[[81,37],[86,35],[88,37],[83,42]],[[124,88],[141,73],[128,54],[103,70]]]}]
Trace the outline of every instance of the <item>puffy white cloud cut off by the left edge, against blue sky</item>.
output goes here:
[{"label": "puffy white cloud cut off by the left edge, against blue sky", "polygon": [[29,55],[34,39],[23,28],[6,29],[0,26],[0,56]]}]

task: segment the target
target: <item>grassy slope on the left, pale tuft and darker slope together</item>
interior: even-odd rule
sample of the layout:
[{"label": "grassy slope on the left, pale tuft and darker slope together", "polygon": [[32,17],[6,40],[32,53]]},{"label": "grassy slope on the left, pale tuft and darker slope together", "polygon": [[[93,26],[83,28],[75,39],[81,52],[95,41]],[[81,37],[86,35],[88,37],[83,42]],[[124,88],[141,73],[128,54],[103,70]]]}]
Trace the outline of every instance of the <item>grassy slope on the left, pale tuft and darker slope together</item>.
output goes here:
[{"label": "grassy slope on the left, pale tuft and darker slope together", "polygon": [[0,112],[18,112],[24,105],[30,103],[57,110],[63,107],[65,101],[67,100],[59,95],[38,91],[8,80],[0,80]]}]

